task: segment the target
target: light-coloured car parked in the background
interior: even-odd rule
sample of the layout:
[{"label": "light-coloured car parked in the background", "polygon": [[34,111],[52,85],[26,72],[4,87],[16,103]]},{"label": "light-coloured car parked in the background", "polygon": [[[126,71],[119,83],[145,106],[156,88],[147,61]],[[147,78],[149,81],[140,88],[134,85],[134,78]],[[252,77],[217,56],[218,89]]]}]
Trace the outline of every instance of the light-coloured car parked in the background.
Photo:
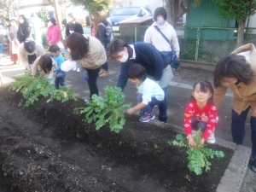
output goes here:
[{"label": "light-coloured car parked in the background", "polygon": [[115,9],[113,14],[108,17],[113,26],[113,32],[119,32],[119,21],[130,19],[132,17],[152,16],[151,10],[145,7],[125,7]]}]

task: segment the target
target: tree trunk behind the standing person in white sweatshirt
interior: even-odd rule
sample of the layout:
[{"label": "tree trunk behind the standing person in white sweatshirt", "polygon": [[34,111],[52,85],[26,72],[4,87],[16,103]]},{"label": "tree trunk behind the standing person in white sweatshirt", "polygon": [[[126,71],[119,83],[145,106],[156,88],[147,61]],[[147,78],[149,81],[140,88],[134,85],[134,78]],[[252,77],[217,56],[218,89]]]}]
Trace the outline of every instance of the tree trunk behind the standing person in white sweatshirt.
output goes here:
[{"label": "tree trunk behind the standing person in white sweatshirt", "polygon": [[170,23],[174,28],[176,27],[178,20],[178,3],[178,0],[166,0],[167,22]]}]

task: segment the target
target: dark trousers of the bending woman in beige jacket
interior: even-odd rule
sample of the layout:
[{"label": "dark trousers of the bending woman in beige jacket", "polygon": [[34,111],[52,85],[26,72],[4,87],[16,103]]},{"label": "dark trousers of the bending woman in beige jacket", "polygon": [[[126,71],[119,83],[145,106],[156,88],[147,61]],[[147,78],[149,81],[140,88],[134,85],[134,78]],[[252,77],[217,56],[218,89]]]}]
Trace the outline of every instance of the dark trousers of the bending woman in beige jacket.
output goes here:
[{"label": "dark trousers of the bending woman in beige jacket", "polygon": [[96,81],[98,79],[98,75],[101,70],[101,67],[96,69],[87,69],[87,70],[88,70],[88,78],[89,78],[87,79],[87,83],[90,90],[90,98],[93,94],[96,94],[97,96],[99,96],[99,90],[98,90]]}]

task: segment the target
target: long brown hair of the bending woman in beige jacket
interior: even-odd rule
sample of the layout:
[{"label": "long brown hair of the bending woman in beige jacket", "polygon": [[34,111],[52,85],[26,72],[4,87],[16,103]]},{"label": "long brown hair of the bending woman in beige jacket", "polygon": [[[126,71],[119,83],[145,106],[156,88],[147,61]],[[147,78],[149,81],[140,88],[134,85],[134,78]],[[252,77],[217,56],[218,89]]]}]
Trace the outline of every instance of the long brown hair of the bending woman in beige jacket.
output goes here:
[{"label": "long brown hair of the bending woman in beige jacket", "polygon": [[67,47],[74,61],[86,57],[89,50],[89,38],[84,38],[79,32],[73,32],[67,37]]}]

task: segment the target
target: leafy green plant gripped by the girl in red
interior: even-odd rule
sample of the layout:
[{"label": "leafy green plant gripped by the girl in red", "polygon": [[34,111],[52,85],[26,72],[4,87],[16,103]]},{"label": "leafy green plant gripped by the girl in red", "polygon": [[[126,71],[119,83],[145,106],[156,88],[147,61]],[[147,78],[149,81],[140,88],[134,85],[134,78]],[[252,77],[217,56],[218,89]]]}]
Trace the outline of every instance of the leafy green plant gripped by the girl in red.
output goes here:
[{"label": "leafy green plant gripped by the girl in red", "polygon": [[202,169],[205,167],[206,172],[209,171],[212,163],[209,159],[213,159],[214,155],[218,158],[223,158],[224,153],[222,151],[215,151],[211,148],[205,148],[205,145],[200,145],[202,132],[197,131],[194,140],[196,147],[189,147],[188,140],[183,137],[182,134],[177,134],[176,140],[173,142],[168,142],[170,145],[175,145],[177,147],[185,147],[187,149],[188,160],[189,160],[189,170],[195,172],[196,175],[201,175]]}]

